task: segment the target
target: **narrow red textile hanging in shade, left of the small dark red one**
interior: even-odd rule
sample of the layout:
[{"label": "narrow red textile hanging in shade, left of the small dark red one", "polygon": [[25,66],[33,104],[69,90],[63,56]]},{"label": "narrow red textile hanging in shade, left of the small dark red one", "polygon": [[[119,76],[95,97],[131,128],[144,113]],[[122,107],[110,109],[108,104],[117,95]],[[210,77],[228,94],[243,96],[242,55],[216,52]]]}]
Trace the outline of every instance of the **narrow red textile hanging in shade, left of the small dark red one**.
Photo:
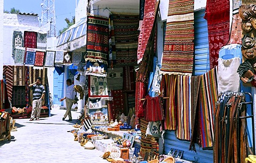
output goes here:
[{"label": "narrow red textile hanging in shade, left of the small dark red one", "polygon": [[146,96],[147,88],[144,83],[137,81],[135,87],[135,114],[137,115],[135,118],[135,123],[139,123],[138,113],[139,113],[139,106],[141,104],[141,99]]}]

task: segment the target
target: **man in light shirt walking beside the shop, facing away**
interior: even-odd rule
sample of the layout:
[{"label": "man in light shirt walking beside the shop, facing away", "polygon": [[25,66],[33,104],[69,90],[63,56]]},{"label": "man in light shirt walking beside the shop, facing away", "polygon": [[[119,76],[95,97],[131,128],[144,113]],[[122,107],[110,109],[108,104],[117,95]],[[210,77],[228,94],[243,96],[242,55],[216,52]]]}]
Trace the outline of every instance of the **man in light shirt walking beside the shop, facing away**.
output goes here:
[{"label": "man in light shirt walking beside the shop, facing away", "polygon": [[66,91],[66,97],[63,97],[60,99],[60,101],[66,100],[66,107],[67,111],[65,115],[63,116],[62,120],[65,120],[65,118],[68,116],[68,121],[72,121],[72,115],[71,115],[71,107],[73,105],[72,100],[75,99],[76,92],[74,91],[74,84],[72,84],[71,79],[67,79],[67,91]]}]

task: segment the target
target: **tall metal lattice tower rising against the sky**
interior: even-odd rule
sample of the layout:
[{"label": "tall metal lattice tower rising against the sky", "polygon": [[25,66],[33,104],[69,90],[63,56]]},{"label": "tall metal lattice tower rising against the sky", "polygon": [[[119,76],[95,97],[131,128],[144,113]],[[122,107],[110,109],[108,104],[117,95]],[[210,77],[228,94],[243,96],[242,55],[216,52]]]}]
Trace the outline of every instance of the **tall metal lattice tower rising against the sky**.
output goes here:
[{"label": "tall metal lattice tower rising against the sky", "polygon": [[50,30],[47,31],[47,37],[56,37],[56,21],[55,21],[55,2],[54,0],[42,0],[42,19],[41,26],[50,23]]}]

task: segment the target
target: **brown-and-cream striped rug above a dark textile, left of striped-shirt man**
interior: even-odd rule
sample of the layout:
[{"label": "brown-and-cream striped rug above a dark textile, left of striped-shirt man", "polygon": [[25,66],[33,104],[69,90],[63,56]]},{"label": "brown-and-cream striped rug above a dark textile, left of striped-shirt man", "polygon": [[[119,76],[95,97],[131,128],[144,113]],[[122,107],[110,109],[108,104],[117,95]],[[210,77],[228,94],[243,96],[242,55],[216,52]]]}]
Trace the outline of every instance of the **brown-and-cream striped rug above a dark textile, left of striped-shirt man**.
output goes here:
[{"label": "brown-and-cream striped rug above a dark textile, left of striped-shirt man", "polygon": [[13,86],[25,86],[26,82],[26,67],[13,66]]}]

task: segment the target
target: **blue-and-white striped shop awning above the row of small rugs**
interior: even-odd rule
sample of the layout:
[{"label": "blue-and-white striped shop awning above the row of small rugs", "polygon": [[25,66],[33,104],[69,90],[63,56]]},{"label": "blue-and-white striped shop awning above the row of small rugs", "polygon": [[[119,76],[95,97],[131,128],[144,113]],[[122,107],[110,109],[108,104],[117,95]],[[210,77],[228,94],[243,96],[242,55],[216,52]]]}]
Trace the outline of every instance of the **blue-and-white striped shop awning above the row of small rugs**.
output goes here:
[{"label": "blue-and-white striped shop awning above the row of small rugs", "polygon": [[57,50],[75,51],[86,45],[86,22],[83,18],[63,32],[58,40]]}]

